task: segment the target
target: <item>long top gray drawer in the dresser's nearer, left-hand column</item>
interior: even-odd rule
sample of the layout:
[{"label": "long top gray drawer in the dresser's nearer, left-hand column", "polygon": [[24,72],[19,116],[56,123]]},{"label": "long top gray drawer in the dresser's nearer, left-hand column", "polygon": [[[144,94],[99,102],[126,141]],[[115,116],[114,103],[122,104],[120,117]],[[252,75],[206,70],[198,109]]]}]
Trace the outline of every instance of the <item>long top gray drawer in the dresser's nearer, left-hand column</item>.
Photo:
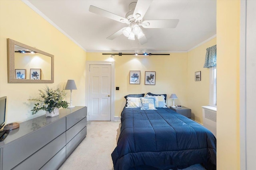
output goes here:
[{"label": "long top gray drawer in the dresser's nearer, left-hand column", "polygon": [[[3,170],[10,170],[65,132],[65,117],[33,131],[2,148]],[[64,140],[65,141],[65,140]]]}]

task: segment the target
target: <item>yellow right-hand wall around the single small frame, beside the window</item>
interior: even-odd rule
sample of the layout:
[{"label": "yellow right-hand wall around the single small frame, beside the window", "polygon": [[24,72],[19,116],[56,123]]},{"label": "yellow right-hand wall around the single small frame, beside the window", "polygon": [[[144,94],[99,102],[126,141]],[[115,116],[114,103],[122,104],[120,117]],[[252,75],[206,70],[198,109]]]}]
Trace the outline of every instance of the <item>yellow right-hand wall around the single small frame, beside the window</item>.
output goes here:
[{"label": "yellow right-hand wall around the single small frame, beside the window", "polygon": [[[216,45],[216,38],[188,52],[188,105],[192,111],[192,119],[203,123],[202,106],[209,104],[209,68],[204,67],[206,49]],[[201,71],[201,81],[195,81],[195,72]]]}]

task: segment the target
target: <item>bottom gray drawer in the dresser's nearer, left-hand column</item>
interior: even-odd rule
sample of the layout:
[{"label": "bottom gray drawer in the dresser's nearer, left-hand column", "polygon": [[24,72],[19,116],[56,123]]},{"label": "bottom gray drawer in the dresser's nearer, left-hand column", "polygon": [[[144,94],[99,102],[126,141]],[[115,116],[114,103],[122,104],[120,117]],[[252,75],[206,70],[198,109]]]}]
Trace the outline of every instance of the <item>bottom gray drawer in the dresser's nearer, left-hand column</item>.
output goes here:
[{"label": "bottom gray drawer in the dresser's nearer, left-hand column", "polygon": [[66,146],[63,147],[51,160],[49,160],[40,170],[56,170],[66,160]]}]

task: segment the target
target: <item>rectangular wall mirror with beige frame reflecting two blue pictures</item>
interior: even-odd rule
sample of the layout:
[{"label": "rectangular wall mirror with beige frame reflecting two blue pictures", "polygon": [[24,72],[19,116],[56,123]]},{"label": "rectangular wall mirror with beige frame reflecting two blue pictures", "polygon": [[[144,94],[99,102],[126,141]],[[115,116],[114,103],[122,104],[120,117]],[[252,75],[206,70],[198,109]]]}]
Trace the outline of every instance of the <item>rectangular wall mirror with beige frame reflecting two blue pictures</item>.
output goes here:
[{"label": "rectangular wall mirror with beige frame reflecting two blue pictures", "polygon": [[8,39],[8,82],[53,83],[54,56]]}]

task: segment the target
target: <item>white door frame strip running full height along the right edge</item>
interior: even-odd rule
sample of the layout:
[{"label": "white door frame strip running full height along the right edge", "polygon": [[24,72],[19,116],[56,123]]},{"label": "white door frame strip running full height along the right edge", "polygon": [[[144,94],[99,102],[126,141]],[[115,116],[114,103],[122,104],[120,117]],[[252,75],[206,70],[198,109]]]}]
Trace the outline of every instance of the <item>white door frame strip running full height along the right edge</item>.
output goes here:
[{"label": "white door frame strip running full height along the right edge", "polygon": [[[247,4],[249,3],[249,4]],[[249,63],[255,63],[252,10],[254,1],[240,1],[240,169],[251,170],[255,161],[255,90],[253,79],[256,68]],[[250,25],[250,27],[247,27]],[[253,37],[254,36],[254,37]],[[254,39],[253,39],[254,38]]]}]

